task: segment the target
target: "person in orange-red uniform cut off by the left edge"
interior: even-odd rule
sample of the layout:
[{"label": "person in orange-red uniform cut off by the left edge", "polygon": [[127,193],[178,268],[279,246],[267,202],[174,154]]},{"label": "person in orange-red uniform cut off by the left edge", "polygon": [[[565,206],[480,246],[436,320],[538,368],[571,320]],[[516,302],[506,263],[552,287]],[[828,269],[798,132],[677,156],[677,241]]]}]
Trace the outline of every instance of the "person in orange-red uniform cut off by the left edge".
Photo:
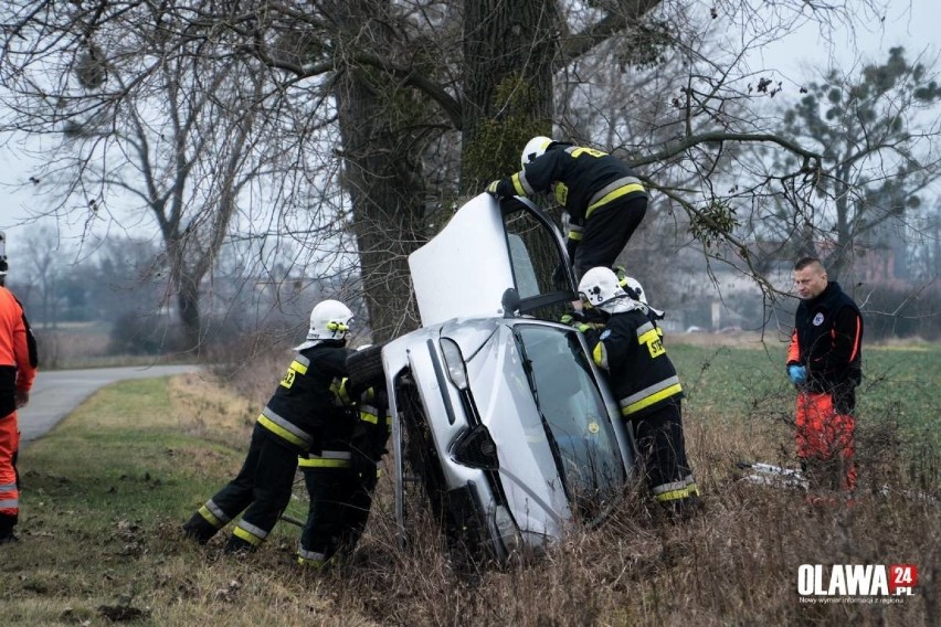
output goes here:
[{"label": "person in orange-red uniform cut off by the left edge", "polygon": [[6,236],[0,232],[0,544],[17,541],[13,533],[20,516],[17,410],[30,401],[39,362],[35,338],[23,307],[6,287],[4,244]]}]

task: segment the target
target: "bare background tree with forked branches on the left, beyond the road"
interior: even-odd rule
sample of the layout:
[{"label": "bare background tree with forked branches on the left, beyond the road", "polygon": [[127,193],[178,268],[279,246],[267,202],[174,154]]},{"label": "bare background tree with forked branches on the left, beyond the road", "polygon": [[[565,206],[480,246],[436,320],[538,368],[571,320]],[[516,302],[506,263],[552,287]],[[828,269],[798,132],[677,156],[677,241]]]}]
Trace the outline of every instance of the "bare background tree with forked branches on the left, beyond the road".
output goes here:
[{"label": "bare background tree with forked branches on the left, beyond the road", "polygon": [[177,22],[166,6],[21,9],[31,7],[7,40],[6,63],[19,66],[4,78],[18,107],[12,124],[61,134],[36,177],[60,193],[51,211],[82,211],[91,226],[116,190],[148,211],[163,242],[168,296],[186,346],[197,349],[201,281],[241,199],[261,194],[250,185],[281,156],[260,145],[274,132],[273,118],[260,115],[267,68],[211,24]]}]

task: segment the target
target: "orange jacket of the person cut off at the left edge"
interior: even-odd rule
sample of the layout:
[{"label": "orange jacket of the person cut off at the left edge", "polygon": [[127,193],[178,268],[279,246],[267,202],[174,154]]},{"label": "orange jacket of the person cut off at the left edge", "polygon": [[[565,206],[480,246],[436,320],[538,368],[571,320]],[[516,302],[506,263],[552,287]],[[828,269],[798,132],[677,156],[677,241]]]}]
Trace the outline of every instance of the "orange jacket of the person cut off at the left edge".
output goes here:
[{"label": "orange jacket of the person cut off at the left edge", "polygon": [[39,359],[23,307],[0,287],[0,418],[17,408],[15,392],[29,392]]}]

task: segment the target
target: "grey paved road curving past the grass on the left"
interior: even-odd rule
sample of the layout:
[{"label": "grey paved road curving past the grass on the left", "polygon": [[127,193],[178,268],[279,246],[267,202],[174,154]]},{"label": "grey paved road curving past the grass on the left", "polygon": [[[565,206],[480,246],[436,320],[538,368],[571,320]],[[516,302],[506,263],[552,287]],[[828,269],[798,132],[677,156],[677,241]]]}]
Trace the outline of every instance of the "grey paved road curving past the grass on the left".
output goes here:
[{"label": "grey paved road curving past the grass on the left", "polygon": [[35,439],[54,427],[99,387],[126,379],[155,379],[193,372],[195,365],[150,365],[96,368],[88,370],[40,370],[30,391],[30,404],[20,410],[22,443]]}]

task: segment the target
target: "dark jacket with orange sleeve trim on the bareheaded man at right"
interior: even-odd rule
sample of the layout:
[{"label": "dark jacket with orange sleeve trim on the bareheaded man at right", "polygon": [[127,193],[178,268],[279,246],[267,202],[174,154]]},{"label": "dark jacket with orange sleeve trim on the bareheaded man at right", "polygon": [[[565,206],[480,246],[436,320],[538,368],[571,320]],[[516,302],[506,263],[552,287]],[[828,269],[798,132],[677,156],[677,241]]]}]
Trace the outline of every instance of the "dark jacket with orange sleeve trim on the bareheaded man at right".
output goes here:
[{"label": "dark jacket with orange sleeve trim on the bareheaded man at right", "polygon": [[787,365],[807,369],[808,392],[829,393],[863,380],[863,316],[838,283],[802,300],[794,315]]}]

